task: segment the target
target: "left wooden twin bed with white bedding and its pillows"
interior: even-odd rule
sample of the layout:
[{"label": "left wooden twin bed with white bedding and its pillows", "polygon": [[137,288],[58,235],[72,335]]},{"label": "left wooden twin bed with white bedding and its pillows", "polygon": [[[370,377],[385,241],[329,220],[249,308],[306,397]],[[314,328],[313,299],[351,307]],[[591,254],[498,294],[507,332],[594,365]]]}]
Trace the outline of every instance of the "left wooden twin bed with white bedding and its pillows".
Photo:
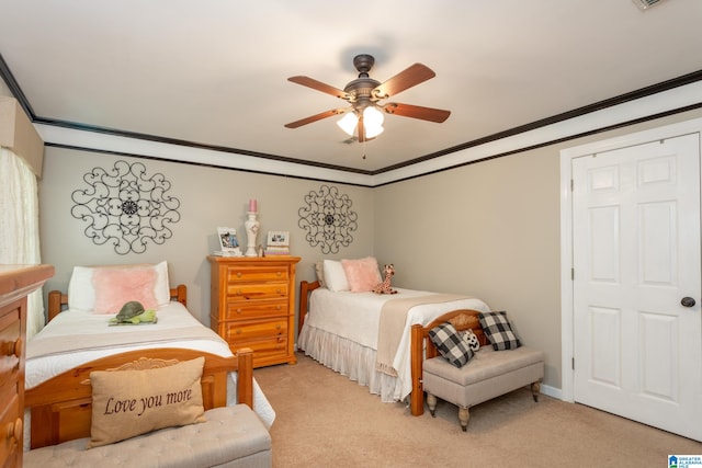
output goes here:
[{"label": "left wooden twin bed with white bedding and its pillows", "polygon": [[[275,412],[253,380],[252,353],[240,350],[235,356],[223,339],[188,311],[186,289],[168,286],[166,262],[77,266],[68,292],[49,294],[50,321],[26,345],[25,448],[89,436],[90,372],[132,363],[158,366],[204,356],[205,409],[242,402],[267,427],[273,423]],[[155,306],[156,323],[109,326],[118,311],[114,304],[139,299]],[[110,309],[110,301],[112,315],[98,311]]]}]

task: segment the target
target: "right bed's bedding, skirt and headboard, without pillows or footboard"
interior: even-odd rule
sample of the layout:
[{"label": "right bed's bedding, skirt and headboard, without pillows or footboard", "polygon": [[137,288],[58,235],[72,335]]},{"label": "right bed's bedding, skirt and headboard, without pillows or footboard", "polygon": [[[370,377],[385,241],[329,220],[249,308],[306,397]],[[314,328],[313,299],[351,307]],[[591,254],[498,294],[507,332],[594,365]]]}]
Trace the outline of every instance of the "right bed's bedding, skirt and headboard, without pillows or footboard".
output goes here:
[{"label": "right bed's bedding, skirt and headboard, without pillows or footboard", "polygon": [[483,300],[469,296],[403,288],[392,295],[339,290],[322,286],[322,278],[324,272],[318,271],[318,281],[301,282],[298,347],[367,386],[383,402],[403,401],[411,393],[412,324],[427,324],[456,309],[490,311]]}]

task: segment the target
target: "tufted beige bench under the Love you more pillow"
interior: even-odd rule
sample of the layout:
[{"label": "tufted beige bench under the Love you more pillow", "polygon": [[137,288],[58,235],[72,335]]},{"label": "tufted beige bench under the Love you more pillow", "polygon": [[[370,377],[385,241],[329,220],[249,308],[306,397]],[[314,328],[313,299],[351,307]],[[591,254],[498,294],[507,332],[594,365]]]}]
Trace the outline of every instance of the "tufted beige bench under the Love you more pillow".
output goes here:
[{"label": "tufted beige bench under the Love you more pillow", "polygon": [[207,421],[168,427],[95,448],[79,438],[26,452],[26,468],[271,467],[271,436],[246,404],[214,408]]}]

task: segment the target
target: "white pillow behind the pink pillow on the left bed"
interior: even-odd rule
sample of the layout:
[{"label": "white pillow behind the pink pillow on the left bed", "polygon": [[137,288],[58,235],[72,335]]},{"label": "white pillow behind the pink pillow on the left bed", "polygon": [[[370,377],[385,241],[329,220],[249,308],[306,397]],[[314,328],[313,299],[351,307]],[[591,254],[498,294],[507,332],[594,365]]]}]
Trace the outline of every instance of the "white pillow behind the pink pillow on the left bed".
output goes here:
[{"label": "white pillow behind the pink pillow on the left bed", "polygon": [[162,261],[156,265],[131,264],[131,265],[105,265],[105,266],[73,266],[73,273],[68,282],[68,308],[70,310],[82,310],[92,312],[95,308],[95,288],[92,283],[92,275],[99,269],[144,269],[151,266],[156,270],[156,284],[154,294],[159,307],[168,306],[171,301],[171,289],[168,281],[168,262]]}]

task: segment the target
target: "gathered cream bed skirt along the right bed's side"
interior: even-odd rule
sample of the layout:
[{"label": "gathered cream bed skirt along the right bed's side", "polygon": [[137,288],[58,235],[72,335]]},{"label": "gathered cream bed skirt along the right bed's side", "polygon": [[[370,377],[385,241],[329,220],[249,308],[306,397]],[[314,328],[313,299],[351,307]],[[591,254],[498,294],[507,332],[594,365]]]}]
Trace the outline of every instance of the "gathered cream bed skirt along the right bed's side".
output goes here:
[{"label": "gathered cream bed skirt along the right bed's side", "polygon": [[304,326],[298,345],[305,355],[321,365],[369,387],[373,395],[380,395],[384,403],[401,399],[401,383],[397,377],[375,370],[376,351],[349,339],[329,333],[315,327]]}]

